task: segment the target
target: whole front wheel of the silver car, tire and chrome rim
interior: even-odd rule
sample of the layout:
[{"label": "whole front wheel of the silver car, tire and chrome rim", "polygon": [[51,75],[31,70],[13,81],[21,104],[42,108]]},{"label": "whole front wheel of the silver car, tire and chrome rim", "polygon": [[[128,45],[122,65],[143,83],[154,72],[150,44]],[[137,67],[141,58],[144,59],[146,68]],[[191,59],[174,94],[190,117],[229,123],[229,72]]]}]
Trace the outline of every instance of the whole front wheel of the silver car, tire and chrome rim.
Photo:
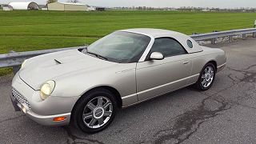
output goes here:
[{"label": "whole front wheel of the silver car, tire and chrome rim", "polygon": [[72,119],[86,133],[104,130],[114,119],[117,103],[109,90],[92,90],[75,106]]}]

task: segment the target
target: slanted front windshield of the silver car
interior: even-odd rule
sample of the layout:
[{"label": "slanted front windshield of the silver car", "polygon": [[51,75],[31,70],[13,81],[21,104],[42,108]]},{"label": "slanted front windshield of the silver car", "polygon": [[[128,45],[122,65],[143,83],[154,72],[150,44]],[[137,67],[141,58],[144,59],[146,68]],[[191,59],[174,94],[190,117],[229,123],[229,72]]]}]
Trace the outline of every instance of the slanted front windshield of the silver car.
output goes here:
[{"label": "slanted front windshield of the silver car", "polygon": [[118,31],[94,42],[85,53],[111,62],[138,62],[149,42],[146,35]]}]

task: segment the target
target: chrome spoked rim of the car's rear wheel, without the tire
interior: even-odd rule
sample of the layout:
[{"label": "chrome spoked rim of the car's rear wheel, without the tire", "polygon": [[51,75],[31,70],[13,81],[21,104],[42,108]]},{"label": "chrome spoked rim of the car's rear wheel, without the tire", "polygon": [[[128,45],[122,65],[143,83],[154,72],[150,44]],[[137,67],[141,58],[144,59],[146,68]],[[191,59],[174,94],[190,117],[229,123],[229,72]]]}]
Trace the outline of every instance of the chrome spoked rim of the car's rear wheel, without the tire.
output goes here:
[{"label": "chrome spoked rim of the car's rear wheel, without the tire", "polygon": [[214,68],[212,66],[207,66],[202,73],[202,86],[207,88],[214,80]]}]

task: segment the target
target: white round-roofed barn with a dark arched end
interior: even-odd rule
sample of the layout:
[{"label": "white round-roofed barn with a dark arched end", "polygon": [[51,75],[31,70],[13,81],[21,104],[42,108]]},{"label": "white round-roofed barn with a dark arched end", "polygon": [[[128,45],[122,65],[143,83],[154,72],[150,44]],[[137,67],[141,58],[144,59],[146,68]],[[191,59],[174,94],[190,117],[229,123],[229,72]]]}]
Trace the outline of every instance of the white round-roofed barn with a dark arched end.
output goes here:
[{"label": "white round-roofed barn with a dark arched end", "polygon": [[8,4],[13,10],[38,10],[39,6],[35,2],[10,2]]}]

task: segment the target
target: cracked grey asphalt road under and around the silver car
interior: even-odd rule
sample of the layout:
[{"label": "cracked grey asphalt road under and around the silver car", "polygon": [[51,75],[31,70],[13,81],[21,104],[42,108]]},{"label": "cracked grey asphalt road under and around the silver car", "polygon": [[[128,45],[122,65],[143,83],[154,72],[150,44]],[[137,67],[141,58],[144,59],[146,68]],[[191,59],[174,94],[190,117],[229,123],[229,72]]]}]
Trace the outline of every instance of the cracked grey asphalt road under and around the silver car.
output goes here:
[{"label": "cracked grey asphalt road under and around the silver car", "polygon": [[98,134],[40,126],[10,102],[12,76],[0,78],[0,143],[255,143],[256,39],[216,45],[227,66],[210,90],[190,87],[120,110]]}]

